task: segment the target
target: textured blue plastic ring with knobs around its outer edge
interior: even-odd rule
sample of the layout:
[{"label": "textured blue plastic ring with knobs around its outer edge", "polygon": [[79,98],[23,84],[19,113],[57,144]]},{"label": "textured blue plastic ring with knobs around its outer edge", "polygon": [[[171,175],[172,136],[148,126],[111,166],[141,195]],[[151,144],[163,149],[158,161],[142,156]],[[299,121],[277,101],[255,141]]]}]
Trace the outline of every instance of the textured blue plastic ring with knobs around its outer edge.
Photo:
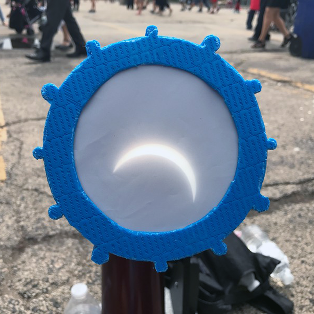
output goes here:
[{"label": "textured blue plastic ring with knobs around its outer edge", "polygon": [[[253,208],[267,210],[269,200],[260,194],[266,170],[267,150],[276,148],[267,139],[254,93],[261,90],[257,80],[246,81],[215,53],[219,39],[207,36],[201,45],[182,39],[158,36],[148,26],[143,37],[120,41],[100,48],[97,41],[86,44],[88,57],[60,88],[46,84],[42,96],[51,106],[43,147],[33,151],[44,159],[47,179],[56,205],[49,208],[52,219],[63,215],[70,225],[94,244],[92,260],[102,264],[109,253],[152,261],[157,271],[167,269],[167,261],[211,249],[227,250],[223,239]],[[225,100],[239,137],[239,159],[234,181],[218,206],[202,219],[183,229],[167,232],[135,232],[122,228],[103,214],[83,191],[73,159],[73,139],[82,108],[95,91],[116,73],[143,64],[158,64],[188,71],[203,79]]]}]

